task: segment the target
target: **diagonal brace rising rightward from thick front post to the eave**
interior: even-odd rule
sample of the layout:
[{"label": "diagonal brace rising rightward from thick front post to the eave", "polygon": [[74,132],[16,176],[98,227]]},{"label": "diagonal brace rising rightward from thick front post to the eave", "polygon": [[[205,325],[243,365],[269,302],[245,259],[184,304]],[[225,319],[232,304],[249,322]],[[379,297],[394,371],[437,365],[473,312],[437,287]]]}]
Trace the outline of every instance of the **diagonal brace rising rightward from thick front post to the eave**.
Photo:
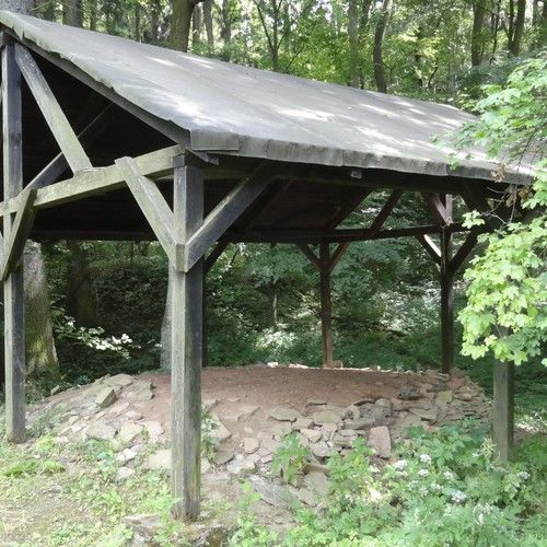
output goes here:
[{"label": "diagonal brace rising rightward from thick front post to the eave", "polygon": [[240,214],[267,188],[279,174],[271,162],[263,162],[248,177],[244,178],[207,216],[203,224],[182,247],[181,266],[188,271],[199,260],[207,247],[214,243],[237,220]]}]

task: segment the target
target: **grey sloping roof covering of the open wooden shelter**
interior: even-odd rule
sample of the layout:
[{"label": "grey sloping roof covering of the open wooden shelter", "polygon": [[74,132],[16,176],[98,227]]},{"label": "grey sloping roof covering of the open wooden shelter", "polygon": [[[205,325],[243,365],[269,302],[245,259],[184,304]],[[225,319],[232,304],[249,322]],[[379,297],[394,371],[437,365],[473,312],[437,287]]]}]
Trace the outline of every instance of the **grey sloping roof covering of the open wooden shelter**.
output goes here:
[{"label": "grey sloping roof covering of the open wooden shelter", "polygon": [[21,38],[58,55],[159,119],[196,150],[247,158],[491,179],[434,136],[473,116],[452,106],[327,84],[0,11]]}]

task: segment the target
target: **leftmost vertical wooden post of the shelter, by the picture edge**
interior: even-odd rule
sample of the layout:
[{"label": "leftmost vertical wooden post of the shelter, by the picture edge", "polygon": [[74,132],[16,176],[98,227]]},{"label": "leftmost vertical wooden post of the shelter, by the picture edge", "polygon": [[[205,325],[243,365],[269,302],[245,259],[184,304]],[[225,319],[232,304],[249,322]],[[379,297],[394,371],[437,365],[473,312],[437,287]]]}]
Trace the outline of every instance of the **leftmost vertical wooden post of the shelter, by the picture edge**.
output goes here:
[{"label": "leftmost vertical wooden post of the shelter, by the picture edge", "polygon": [[[21,123],[21,72],[15,62],[13,42],[2,49],[2,133],[3,198],[15,197],[23,189]],[[14,214],[3,218],[3,241],[8,242]],[[25,324],[23,268],[18,266],[5,279],[4,354],[5,354],[5,430],[12,442],[25,438]]]}]

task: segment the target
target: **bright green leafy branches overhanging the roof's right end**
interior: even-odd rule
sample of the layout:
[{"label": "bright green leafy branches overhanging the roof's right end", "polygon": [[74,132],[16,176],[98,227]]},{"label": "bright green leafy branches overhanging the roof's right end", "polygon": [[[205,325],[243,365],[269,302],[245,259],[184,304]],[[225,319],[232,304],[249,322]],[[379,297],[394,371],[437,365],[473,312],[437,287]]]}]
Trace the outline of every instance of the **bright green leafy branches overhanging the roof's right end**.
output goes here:
[{"label": "bright green leafy branches overhanging the roof's right end", "polygon": [[[480,114],[467,124],[457,143],[477,143],[507,165],[533,162],[534,182],[507,198],[532,210],[529,222],[512,219],[503,229],[482,235],[487,245],[465,274],[468,302],[459,314],[463,352],[473,358],[491,351],[516,364],[540,356],[547,344],[547,54],[517,67],[504,86],[485,88]],[[515,190],[516,191],[516,190]],[[501,203],[504,205],[504,203]],[[468,224],[484,223],[477,213]],[[547,365],[547,359],[544,359]]]}]

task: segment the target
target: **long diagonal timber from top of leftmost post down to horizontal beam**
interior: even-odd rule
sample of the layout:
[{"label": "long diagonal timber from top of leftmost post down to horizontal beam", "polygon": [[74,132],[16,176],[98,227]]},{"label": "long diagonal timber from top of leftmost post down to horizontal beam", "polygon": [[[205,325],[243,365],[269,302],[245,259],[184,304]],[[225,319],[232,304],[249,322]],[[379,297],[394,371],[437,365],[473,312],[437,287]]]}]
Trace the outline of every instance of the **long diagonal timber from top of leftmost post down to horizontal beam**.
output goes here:
[{"label": "long diagonal timber from top of leftmost post down to horizontal beam", "polygon": [[44,74],[32,55],[21,44],[15,44],[15,59],[72,172],[93,168]]}]

